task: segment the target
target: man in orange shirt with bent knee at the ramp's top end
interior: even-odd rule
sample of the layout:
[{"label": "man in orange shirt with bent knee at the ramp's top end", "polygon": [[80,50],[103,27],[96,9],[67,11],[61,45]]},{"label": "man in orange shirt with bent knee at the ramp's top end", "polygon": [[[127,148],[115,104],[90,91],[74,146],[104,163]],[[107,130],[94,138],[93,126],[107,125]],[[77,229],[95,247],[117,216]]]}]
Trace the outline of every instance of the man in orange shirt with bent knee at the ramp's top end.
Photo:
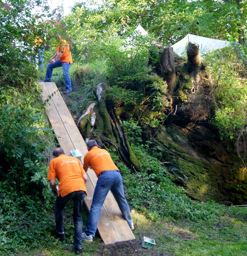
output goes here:
[{"label": "man in orange shirt with bent knee at the ramp's top end", "polygon": [[[58,35],[58,38],[60,38],[60,35]],[[66,89],[62,93],[71,93],[72,85],[69,76],[69,68],[72,62],[73,60],[69,50],[69,44],[60,38],[60,44],[56,47],[56,53],[50,58],[50,63],[47,65],[45,82],[52,81],[52,71],[54,68],[63,67],[63,78]]]}]

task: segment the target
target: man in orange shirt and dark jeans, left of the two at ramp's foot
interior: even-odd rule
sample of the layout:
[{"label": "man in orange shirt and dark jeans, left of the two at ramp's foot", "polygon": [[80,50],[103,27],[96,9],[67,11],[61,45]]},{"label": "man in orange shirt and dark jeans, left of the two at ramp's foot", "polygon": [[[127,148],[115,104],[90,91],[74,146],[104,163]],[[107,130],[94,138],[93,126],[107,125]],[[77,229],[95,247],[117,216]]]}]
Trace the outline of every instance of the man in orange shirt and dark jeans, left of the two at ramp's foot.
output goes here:
[{"label": "man in orange shirt and dark jeans, left of the two at ramp's foot", "polygon": [[[74,202],[74,248],[75,253],[82,253],[82,218],[81,211],[83,199],[86,197],[86,172],[80,161],[71,156],[66,156],[62,148],[56,148],[52,152],[54,158],[51,160],[48,169],[47,180],[55,195],[55,235],[60,241],[66,239],[63,227],[63,209],[70,199]],[[59,180],[59,187],[56,187],[56,178]]]}]

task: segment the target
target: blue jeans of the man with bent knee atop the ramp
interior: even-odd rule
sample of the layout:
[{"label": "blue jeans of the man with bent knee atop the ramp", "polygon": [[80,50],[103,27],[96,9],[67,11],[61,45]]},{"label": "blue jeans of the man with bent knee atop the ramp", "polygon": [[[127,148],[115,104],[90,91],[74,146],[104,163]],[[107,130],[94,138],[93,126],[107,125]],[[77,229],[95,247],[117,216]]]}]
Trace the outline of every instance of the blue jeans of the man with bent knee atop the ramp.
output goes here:
[{"label": "blue jeans of the man with bent knee atop the ramp", "polygon": [[71,80],[70,80],[70,76],[69,76],[70,63],[61,62],[59,60],[56,60],[54,64],[48,63],[47,67],[46,67],[45,82],[52,81],[52,71],[56,67],[63,67],[63,78],[64,78],[66,90],[69,90],[70,92],[72,92],[72,85],[71,85]]}]

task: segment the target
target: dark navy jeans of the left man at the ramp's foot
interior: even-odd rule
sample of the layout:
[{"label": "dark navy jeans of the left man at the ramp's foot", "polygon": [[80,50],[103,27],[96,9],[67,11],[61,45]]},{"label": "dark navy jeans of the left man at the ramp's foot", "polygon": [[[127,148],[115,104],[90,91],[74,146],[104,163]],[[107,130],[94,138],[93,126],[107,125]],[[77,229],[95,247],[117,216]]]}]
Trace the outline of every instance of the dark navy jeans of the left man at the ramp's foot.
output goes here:
[{"label": "dark navy jeans of the left man at the ramp's foot", "polygon": [[69,193],[64,197],[57,197],[55,202],[55,220],[56,220],[56,230],[59,233],[64,232],[63,227],[63,209],[70,199],[74,202],[74,210],[73,210],[73,221],[74,221],[74,247],[82,248],[82,218],[81,211],[83,205],[83,199],[86,197],[85,191],[74,191]]}]

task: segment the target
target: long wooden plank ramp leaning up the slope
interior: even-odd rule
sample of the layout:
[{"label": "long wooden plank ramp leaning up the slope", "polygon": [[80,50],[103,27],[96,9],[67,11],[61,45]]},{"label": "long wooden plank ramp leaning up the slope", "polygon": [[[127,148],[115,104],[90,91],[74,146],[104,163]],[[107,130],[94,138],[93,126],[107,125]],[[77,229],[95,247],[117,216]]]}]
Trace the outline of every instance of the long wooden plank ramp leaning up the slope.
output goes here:
[{"label": "long wooden plank ramp leaning up the slope", "polygon": [[[64,149],[67,155],[71,155],[70,150],[77,148],[84,157],[87,153],[86,143],[63,101],[56,84],[52,82],[39,82],[39,84],[43,90],[43,101],[49,100],[45,105],[46,112],[61,148]],[[80,159],[82,163],[83,157]],[[85,198],[85,203],[86,207],[90,209],[97,177],[91,169],[88,169],[87,175],[89,177],[86,182],[88,195]],[[107,195],[101,209],[98,232],[104,244],[114,244],[120,241],[135,239],[111,192]]]}]

